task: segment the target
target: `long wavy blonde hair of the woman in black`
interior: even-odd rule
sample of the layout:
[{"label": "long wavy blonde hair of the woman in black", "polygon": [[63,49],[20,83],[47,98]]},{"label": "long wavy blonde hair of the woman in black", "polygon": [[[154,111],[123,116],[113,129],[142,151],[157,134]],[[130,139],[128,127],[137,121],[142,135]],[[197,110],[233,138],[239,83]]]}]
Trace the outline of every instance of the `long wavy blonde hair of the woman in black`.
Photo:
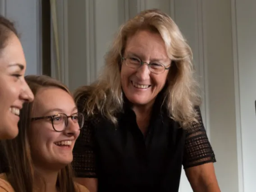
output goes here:
[{"label": "long wavy blonde hair of the woman in black", "polygon": [[192,50],[174,21],[159,9],[142,11],[120,27],[105,55],[103,73],[91,86],[80,87],[75,92],[76,101],[86,94],[84,111],[88,116],[100,112],[117,124],[115,114],[123,110],[121,58],[128,37],[140,30],[157,32],[165,41],[172,64],[167,77],[164,103],[170,118],[178,121],[183,128],[191,127],[192,122],[197,122],[195,106],[201,103],[199,86],[194,76]]}]

